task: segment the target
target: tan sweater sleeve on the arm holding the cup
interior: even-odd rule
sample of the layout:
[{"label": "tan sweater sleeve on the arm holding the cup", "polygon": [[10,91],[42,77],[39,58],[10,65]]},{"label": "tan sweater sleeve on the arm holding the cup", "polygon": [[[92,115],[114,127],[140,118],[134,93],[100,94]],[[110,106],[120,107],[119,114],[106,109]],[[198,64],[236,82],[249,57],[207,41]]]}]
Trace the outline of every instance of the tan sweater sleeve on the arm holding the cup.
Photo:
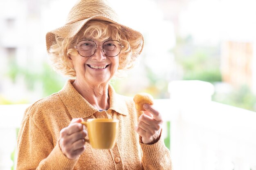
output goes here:
[{"label": "tan sweater sleeve on the arm holding the cup", "polygon": [[[26,110],[26,112],[29,109]],[[58,142],[54,146],[49,129],[41,129],[25,113],[18,134],[16,170],[72,170],[77,160],[68,159]]]}]

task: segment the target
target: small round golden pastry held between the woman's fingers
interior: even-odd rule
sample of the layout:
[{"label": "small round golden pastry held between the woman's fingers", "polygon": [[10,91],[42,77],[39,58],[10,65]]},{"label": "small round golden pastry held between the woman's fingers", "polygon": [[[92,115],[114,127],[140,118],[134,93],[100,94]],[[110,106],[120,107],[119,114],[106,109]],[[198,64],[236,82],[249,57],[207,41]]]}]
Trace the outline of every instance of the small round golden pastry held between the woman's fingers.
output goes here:
[{"label": "small round golden pastry held between the woman's fingers", "polygon": [[135,107],[138,111],[145,111],[143,105],[153,105],[153,97],[148,93],[138,93],[133,97]]}]

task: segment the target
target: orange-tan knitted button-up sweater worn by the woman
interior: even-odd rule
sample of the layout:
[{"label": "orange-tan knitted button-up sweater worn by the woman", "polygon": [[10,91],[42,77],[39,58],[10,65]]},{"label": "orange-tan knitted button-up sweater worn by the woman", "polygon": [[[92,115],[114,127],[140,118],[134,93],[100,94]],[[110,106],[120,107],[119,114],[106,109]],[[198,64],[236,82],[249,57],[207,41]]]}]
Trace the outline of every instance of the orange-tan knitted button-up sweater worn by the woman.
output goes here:
[{"label": "orange-tan knitted button-up sweater worn by the woman", "polygon": [[[99,111],[89,104],[68,80],[61,91],[35,102],[25,111],[18,134],[17,170],[171,170],[171,158],[162,137],[155,144],[141,143],[135,132],[139,113],[131,97],[108,87],[110,108]],[[79,159],[68,159],[58,145],[60,130],[72,118],[119,120],[113,149],[94,149],[86,143]]]}]

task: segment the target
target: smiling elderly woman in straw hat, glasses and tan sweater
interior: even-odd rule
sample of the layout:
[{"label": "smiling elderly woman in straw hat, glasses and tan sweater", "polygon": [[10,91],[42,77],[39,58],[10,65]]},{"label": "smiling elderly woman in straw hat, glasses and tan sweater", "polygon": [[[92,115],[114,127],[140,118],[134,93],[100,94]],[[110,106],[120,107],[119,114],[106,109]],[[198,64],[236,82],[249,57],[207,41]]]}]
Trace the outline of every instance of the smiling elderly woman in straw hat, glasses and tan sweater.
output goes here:
[{"label": "smiling elderly woman in straw hat, glasses and tan sweater", "polygon": [[[160,113],[147,104],[146,111],[137,111],[132,98],[109,84],[133,66],[144,44],[141,33],[119,24],[103,0],[80,0],[67,23],[47,33],[46,43],[53,67],[76,78],[25,111],[17,170],[172,169]],[[94,149],[85,142],[80,122],[90,118],[119,120],[114,148]]]}]

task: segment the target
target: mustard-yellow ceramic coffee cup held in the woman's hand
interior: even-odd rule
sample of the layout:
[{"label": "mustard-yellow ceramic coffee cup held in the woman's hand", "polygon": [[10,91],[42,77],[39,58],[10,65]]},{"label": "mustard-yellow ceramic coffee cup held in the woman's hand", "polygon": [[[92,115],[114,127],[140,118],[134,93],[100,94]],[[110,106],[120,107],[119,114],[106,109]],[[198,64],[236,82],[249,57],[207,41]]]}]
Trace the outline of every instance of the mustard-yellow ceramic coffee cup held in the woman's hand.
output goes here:
[{"label": "mustard-yellow ceramic coffee cup held in the woman's hand", "polygon": [[112,149],[117,140],[119,120],[117,119],[88,119],[81,122],[87,127],[88,139],[92,148]]}]

